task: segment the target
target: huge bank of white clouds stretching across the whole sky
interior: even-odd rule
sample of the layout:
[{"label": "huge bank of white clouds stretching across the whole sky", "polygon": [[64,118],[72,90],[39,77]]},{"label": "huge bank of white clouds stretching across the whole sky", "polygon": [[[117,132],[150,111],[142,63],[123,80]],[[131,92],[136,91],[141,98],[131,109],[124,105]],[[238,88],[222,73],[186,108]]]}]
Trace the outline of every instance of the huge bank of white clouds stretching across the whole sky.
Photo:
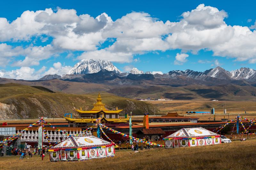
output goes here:
[{"label": "huge bank of white clouds stretching across the whole sky", "polygon": [[[0,18],[0,42],[31,41],[33,37],[38,37],[42,42],[47,42],[49,37],[53,40],[46,46],[33,46],[32,43],[26,47],[12,47],[2,43],[0,65],[39,65],[41,60],[67,51],[82,51],[77,59],[130,63],[136,60],[133,59],[134,55],[172,49],[181,49],[182,54],[188,51],[196,54],[204,49],[213,51],[215,56],[254,63],[256,24],[250,28],[231,26],[224,21],[227,17],[226,11],[204,4],[183,12],[177,22],[164,22],[145,12],[128,13],[113,21],[106,13],[94,18],[89,14],[78,16],[74,9],[24,11],[12,22]],[[99,48],[109,38],[115,40],[113,44]],[[17,56],[24,59],[17,61]],[[182,60],[176,56],[174,63],[183,64],[186,58]]]}]

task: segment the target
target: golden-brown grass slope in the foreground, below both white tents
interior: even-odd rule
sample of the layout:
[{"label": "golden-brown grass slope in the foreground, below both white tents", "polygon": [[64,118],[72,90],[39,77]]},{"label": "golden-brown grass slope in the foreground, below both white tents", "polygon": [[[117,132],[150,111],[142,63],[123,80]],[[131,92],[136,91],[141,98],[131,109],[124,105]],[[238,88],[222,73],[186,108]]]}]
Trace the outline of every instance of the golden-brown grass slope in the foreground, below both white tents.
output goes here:
[{"label": "golden-brown grass slope in the foreground, below both white tents", "polygon": [[0,157],[0,169],[255,169],[256,140],[232,141],[189,148],[155,148],[134,153],[116,151],[115,157],[85,161],[50,162],[38,155]]}]

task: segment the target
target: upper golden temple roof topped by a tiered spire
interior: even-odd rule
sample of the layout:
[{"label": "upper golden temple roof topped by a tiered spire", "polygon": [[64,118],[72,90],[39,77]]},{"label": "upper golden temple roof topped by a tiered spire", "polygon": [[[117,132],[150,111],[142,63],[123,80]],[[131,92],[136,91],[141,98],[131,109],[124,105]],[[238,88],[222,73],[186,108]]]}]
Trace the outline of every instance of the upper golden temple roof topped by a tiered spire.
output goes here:
[{"label": "upper golden temple roof topped by a tiered spire", "polygon": [[93,113],[99,113],[99,112],[104,112],[104,113],[120,113],[123,110],[118,110],[118,108],[116,107],[116,110],[108,110],[105,108],[105,104],[103,104],[101,102],[101,97],[100,97],[100,93],[98,94],[98,98],[97,98],[97,102],[93,104],[93,108],[92,110],[89,111],[84,111],[82,110],[82,108],[76,109],[76,112],[80,113],[80,114],[84,114],[84,113],[88,113],[88,114],[93,114]]}]

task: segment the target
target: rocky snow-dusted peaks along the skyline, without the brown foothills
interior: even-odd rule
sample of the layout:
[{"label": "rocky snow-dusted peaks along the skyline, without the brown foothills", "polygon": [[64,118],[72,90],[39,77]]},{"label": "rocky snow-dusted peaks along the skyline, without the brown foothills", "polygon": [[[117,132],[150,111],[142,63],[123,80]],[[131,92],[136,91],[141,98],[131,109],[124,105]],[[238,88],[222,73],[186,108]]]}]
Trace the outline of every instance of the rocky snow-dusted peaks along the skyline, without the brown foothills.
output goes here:
[{"label": "rocky snow-dusted peaks along the skyline, without the brown foothills", "polygon": [[[68,74],[63,75],[62,77],[59,75],[46,75],[39,80],[49,80],[53,78],[60,79],[72,79],[80,77],[79,75],[93,74],[98,73],[101,70],[112,71],[116,73],[117,77],[127,77],[129,74],[152,74],[152,72],[147,71],[143,72],[138,70],[137,68],[132,68],[132,70],[128,72],[121,72],[113,63],[105,60],[95,60],[95,59],[84,59],[69,70]],[[156,75],[154,77],[159,77],[160,75]],[[206,78],[212,77],[217,79],[230,79],[230,80],[246,80],[254,82],[256,81],[256,70],[250,68],[240,68],[238,70],[227,71],[221,67],[216,67],[210,70],[205,70],[204,72],[194,71],[194,70],[172,70],[168,73],[162,75],[163,78],[172,78],[176,79],[178,77],[187,77],[193,79],[205,80]]]}]

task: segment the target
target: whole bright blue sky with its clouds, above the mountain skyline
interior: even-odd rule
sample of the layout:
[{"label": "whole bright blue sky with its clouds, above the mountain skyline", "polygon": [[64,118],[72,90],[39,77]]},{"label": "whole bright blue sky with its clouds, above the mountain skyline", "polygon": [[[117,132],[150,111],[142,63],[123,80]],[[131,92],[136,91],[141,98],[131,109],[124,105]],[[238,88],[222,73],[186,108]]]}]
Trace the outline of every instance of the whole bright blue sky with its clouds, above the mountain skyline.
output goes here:
[{"label": "whole bright blue sky with its clouds, above the mountain skyline", "polygon": [[2,2],[0,77],[64,74],[89,58],[110,60],[121,71],[256,69],[254,6],[239,1]]}]

